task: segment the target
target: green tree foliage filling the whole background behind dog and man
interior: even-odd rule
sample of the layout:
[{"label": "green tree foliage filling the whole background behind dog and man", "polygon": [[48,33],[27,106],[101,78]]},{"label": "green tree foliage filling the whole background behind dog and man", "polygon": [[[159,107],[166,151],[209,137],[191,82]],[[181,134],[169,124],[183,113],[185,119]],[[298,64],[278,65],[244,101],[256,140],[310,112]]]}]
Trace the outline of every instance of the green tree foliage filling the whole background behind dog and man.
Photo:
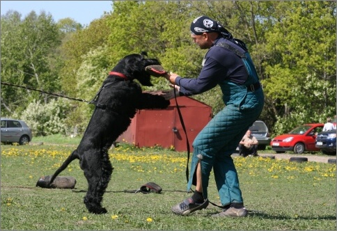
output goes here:
[{"label": "green tree foliage filling the whole background behind dog and man", "polygon": [[[89,100],[120,58],[141,51],[166,70],[195,78],[205,50],[193,44],[189,25],[207,15],[249,47],[265,90],[260,119],[274,134],[336,114],[336,1],[114,1],[112,7],[85,28],[69,18],[55,23],[45,13],[1,15],[1,81]],[[143,89],[169,89],[164,78],[152,82]],[[194,98],[214,113],[224,107],[219,88]],[[50,100],[1,89],[8,116],[33,99]],[[92,111],[70,102],[65,124],[84,129]]]}]

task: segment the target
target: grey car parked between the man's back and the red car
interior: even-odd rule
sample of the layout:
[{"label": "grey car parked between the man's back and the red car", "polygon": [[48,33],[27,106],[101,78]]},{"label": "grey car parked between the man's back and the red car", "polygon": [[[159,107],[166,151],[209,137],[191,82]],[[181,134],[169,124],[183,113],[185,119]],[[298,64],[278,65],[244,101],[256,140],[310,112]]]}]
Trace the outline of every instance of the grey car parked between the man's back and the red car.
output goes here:
[{"label": "grey car parked between the man's back and the red car", "polygon": [[249,127],[251,135],[255,136],[258,140],[258,150],[265,150],[266,146],[270,143],[270,137],[267,125],[261,120],[256,120],[253,125]]}]

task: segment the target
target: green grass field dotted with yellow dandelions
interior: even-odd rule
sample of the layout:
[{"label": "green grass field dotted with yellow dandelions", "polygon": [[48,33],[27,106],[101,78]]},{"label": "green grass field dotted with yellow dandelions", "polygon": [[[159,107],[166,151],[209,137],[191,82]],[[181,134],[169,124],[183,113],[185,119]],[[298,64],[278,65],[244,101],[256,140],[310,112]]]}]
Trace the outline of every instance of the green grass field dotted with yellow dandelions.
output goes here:
[{"label": "green grass field dotted with yellow dandelions", "polygon": [[[75,177],[74,190],[36,187],[74,148],[1,145],[1,230],[336,230],[334,164],[235,157],[249,216],[211,218],[220,212],[212,205],[177,216],[171,207],[191,196],[186,153],[121,145],[110,150],[115,169],[103,200],[108,214],[95,215],[83,203],[87,184],[78,161],[61,174]],[[162,186],[162,193],[116,192],[146,182]],[[219,204],[212,175],[209,199]]]}]

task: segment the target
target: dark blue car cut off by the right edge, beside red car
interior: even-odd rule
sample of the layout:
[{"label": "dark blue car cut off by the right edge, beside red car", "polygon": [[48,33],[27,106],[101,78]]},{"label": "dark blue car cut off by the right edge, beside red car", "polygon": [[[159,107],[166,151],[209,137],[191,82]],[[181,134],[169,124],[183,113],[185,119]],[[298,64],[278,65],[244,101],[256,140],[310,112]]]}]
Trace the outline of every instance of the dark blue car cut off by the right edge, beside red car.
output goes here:
[{"label": "dark blue car cut off by the right edge, beside red car", "polygon": [[[337,118],[332,120],[336,126]],[[316,137],[315,147],[319,148],[323,154],[336,155],[336,129],[320,132]]]}]

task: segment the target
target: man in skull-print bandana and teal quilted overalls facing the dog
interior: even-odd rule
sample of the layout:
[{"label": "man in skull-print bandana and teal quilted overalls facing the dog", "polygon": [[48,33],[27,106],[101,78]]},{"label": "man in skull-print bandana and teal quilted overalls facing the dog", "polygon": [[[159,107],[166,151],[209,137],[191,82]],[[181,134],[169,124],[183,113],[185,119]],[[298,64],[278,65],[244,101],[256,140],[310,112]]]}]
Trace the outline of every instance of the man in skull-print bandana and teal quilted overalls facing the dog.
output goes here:
[{"label": "man in skull-print bandana and teal quilted overalls facing the dog", "polygon": [[260,116],[264,104],[262,88],[244,42],[233,38],[219,22],[207,16],[194,19],[190,29],[193,41],[201,49],[208,49],[203,68],[196,79],[167,74],[166,79],[176,86],[164,97],[171,98],[173,90],[188,96],[219,85],[226,106],[196,136],[187,191],[191,184],[196,185],[196,190],[191,198],[175,205],[172,212],[187,215],[207,207],[207,186],[213,169],[224,207],[213,216],[246,216],[237,170],[230,155]]}]

